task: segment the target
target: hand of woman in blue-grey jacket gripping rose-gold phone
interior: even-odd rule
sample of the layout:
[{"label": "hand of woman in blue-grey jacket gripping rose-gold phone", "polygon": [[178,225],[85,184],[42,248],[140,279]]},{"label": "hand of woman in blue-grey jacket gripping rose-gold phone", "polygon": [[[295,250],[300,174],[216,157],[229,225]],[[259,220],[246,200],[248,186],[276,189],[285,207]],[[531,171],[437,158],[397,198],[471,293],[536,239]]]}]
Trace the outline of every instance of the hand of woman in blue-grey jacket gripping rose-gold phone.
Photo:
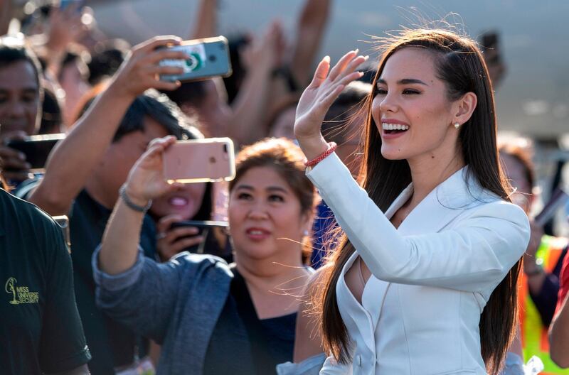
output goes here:
[{"label": "hand of woman in blue-grey jacket gripping rose-gold phone", "polygon": [[164,178],[164,151],[174,143],[174,136],[156,138],[134,163],[127,178],[127,195],[135,204],[144,206],[149,200],[183,186],[181,183],[168,183]]}]

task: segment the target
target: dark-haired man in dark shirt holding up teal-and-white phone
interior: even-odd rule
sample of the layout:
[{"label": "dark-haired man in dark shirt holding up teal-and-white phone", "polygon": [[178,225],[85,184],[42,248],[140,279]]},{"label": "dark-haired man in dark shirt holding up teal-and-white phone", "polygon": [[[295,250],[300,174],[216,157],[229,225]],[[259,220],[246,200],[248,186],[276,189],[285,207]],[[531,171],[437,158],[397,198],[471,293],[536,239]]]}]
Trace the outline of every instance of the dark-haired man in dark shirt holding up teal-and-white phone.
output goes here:
[{"label": "dark-haired man in dark shirt holding up teal-and-white phone", "polygon": [[[147,91],[179,86],[179,82],[159,80],[159,75],[181,73],[179,68],[159,66],[164,59],[187,58],[185,53],[163,48],[176,43],[179,40],[158,37],[133,48],[105,92],[51,153],[43,180],[28,199],[49,214],[69,217],[75,297],[93,375],[135,366],[136,354],[141,354],[137,353],[140,337],[96,308],[91,257],[119,188],[148,143],[168,134],[181,138],[184,132],[179,109],[164,95]],[[155,229],[149,217],[140,244],[154,258]]]}]

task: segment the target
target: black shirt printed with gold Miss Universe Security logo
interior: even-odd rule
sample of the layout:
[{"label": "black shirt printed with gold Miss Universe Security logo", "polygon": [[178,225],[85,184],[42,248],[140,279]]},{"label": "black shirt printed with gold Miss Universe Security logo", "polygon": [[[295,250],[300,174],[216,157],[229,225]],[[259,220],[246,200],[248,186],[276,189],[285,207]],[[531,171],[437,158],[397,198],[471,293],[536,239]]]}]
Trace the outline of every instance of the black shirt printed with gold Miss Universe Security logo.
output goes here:
[{"label": "black shirt printed with gold Miss Universe Security logo", "polygon": [[63,232],[2,189],[0,286],[1,374],[50,374],[89,361]]}]

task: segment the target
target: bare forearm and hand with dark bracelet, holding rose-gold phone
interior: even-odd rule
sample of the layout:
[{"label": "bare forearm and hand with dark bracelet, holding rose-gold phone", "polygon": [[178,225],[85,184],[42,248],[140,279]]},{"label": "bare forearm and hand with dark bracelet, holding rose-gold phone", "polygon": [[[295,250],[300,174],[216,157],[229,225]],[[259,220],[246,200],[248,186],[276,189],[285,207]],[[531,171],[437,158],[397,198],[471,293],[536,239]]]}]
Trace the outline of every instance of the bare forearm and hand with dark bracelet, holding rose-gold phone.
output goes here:
[{"label": "bare forearm and hand with dark bracelet, holding rose-gold phone", "polygon": [[124,192],[115,205],[102,237],[99,253],[101,271],[116,275],[132,268],[137,261],[144,213],[129,207],[125,195],[130,205],[145,207],[150,200],[180,187],[179,183],[166,182],[162,166],[164,150],[175,142],[173,136],[155,139],[130,170]]}]

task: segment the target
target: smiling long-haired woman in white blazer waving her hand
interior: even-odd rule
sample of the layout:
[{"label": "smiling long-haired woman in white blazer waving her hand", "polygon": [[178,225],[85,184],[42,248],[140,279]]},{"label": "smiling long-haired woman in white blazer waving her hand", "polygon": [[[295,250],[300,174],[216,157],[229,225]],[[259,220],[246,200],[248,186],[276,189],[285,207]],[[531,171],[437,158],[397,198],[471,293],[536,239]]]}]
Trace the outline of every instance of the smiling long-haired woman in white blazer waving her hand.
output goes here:
[{"label": "smiling long-haired woman in white blazer waving her hand", "polygon": [[314,288],[320,374],[497,374],[529,224],[500,170],[486,65],[450,31],[402,31],[383,47],[361,186],[321,124],[366,58],[324,58],[297,107],[307,175],[346,233]]}]

